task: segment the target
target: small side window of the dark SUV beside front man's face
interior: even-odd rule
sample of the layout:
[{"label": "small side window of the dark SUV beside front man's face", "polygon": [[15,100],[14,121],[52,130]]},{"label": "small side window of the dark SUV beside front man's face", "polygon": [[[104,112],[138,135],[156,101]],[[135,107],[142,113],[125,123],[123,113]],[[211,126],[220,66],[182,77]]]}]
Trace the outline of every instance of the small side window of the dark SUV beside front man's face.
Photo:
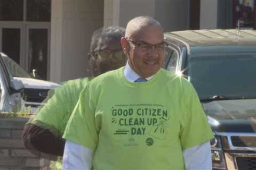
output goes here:
[{"label": "small side window of the dark SUV beside front man's face", "polygon": [[169,71],[176,71],[176,67],[178,64],[178,52],[177,50],[169,47],[167,48],[166,52],[165,52],[165,68],[166,70]]}]

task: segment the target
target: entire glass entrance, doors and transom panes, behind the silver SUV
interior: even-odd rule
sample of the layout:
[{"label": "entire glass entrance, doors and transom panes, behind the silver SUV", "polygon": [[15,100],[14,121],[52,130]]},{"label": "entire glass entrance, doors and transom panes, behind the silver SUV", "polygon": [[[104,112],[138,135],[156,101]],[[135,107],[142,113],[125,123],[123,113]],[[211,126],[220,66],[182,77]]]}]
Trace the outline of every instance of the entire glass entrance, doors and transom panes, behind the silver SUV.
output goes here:
[{"label": "entire glass entrance, doors and transom panes, behind the silver SUV", "polygon": [[0,51],[49,79],[51,0],[0,0]]}]

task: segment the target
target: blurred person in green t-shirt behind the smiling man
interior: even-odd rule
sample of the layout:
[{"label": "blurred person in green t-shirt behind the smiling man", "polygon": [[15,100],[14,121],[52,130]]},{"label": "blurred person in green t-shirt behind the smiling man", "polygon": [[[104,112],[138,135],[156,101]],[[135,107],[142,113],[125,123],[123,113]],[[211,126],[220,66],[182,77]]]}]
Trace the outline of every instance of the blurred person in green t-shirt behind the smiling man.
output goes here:
[{"label": "blurred person in green t-shirt behind the smiling man", "polygon": [[[91,75],[98,75],[125,65],[126,57],[120,43],[125,29],[116,26],[94,31],[90,46],[89,66]],[[27,149],[55,156],[63,156],[65,140],[62,139],[66,124],[77,103],[79,94],[92,78],[69,80],[51,90],[23,130],[23,141]]]}]

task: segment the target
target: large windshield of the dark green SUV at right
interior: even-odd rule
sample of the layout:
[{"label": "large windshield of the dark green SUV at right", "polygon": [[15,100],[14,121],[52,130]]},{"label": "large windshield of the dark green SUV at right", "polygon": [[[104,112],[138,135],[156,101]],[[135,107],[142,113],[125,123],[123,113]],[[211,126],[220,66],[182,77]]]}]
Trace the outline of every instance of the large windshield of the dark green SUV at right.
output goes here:
[{"label": "large windshield of the dark green SUV at right", "polygon": [[256,98],[256,54],[197,55],[187,62],[201,100]]}]

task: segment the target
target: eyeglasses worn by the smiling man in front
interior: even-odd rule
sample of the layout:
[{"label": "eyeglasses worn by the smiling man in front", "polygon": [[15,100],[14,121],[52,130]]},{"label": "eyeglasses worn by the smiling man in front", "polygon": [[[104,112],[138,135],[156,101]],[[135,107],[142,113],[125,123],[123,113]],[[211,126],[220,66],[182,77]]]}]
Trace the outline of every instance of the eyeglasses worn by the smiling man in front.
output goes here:
[{"label": "eyeglasses worn by the smiling man in front", "polygon": [[148,51],[149,49],[151,49],[153,46],[155,47],[155,49],[158,52],[163,52],[165,50],[165,48],[168,46],[168,44],[166,42],[159,43],[159,44],[148,44],[148,43],[136,43],[135,41],[133,41],[130,38],[125,38],[125,39],[130,41],[131,43],[133,43],[135,46],[140,47],[140,49],[145,52]]}]

